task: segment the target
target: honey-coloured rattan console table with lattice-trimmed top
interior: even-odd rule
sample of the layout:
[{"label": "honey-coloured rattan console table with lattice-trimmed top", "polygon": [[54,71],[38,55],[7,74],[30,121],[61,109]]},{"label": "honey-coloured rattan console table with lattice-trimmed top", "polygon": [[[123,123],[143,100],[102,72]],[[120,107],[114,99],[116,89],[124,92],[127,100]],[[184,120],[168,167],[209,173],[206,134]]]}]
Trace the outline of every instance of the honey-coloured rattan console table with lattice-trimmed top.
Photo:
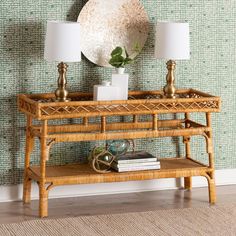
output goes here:
[{"label": "honey-coloured rattan console table with lattice-trimmed top", "polygon": [[[39,185],[39,215],[48,216],[48,193],[58,185],[121,182],[159,178],[184,177],[186,189],[191,189],[192,176],[204,176],[208,181],[209,202],[215,203],[214,156],[211,113],[220,111],[220,98],[193,89],[179,90],[177,99],[163,99],[161,91],[131,91],[124,101],[92,101],[92,94],[72,93],[69,102],[54,102],[54,94],[18,96],[19,110],[27,116],[24,172],[24,203],[30,202],[31,181]],[[190,113],[205,113],[205,124],[190,119]],[[183,113],[183,119],[161,120],[160,114]],[[140,116],[148,119],[141,121]],[[114,116],[128,116],[129,121],[108,122]],[[91,122],[96,117],[99,122]],[[76,124],[50,124],[52,120],[76,118]],[[116,119],[117,120],[117,119]],[[124,119],[121,119],[124,120]],[[37,122],[35,122],[37,121]],[[193,159],[190,137],[206,139],[208,164]],[[57,142],[137,139],[181,136],[185,157],[161,159],[161,169],[128,173],[99,174],[86,164],[47,166],[49,151]],[[35,138],[40,139],[39,166],[30,165]]]}]

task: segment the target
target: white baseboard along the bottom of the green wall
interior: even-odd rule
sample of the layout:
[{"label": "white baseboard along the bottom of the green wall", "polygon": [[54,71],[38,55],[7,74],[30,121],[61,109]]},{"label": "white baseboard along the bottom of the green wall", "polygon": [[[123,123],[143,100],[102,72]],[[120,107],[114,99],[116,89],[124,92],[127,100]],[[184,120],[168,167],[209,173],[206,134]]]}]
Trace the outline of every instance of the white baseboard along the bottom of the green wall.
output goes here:
[{"label": "white baseboard along the bottom of the green wall", "polygon": [[[236,169],[216,170],[216,185],[236,184]],[[155,190],[176,189],[183,186],[181,179],[158,179],[146,181],[131,181],[120,183],[81,184],[58,186],[49,193],[49,198],[65,198],[78,196],[92,196],[104,194],[118,194],[144,192]],[[193,187],[205,187],[207,180],[204,177],[193,177]],[[38,199],[38,186],[32,186],[32,199]],[[0,186],[0,202],[18,201],[22,199],[22,184]]]}]

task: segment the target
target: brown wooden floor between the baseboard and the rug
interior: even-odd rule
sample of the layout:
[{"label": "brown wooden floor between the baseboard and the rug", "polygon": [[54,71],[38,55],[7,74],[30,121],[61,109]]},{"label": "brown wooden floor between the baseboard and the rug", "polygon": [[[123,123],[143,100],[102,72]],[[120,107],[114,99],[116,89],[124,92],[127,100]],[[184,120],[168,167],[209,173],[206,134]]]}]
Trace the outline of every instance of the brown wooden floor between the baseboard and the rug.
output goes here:
[{"label": "brown wooden floor between the baseboard and the rug", "polygon": [[[236,185],[217,187],[217,204],[236,203]],[[49,200],[48,218],[208,206],[207,188]],[[0,223],[38,219],[38,201],[0,203]]]}]

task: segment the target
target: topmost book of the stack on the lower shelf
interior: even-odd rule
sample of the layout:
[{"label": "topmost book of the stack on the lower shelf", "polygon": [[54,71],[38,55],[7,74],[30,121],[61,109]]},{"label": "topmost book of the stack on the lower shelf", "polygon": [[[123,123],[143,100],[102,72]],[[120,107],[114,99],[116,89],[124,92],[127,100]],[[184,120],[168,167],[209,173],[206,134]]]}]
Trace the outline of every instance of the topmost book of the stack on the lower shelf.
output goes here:
[{"label": "topmost book of the stack on the lower shelf", "polygon": [[129,163],[143,163],[143,162],[154,162],[159,160],[153,156],[152,154],[144,151],[136,151],[136,152],[127,152],[124,155],[118,156],[115,159],[115,162],[118,164],[129,164]]}]

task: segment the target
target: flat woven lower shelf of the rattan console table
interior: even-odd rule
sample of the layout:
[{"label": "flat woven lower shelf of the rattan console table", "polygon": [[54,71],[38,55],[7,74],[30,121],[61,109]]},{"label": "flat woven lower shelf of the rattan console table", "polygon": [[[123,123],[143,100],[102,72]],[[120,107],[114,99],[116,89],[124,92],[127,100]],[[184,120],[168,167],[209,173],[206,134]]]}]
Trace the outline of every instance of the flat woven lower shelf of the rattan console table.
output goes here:
[{"label": "flat woven lower shelf of the rattan console table", "polygon": [[[158,178],[179,178],[189,176],[204,176],[213,169],[192,159],[166,158],[161,160],[160,170],[146,170],[133,172],[110,172],[99,174],[87,164],[73,164],[46,167],[46,182],[53,185],[89,184],[106,182],[123,182],[134,180],[148,180]],[[40,167],[28,169],[30,178],[40,181]]]}]

